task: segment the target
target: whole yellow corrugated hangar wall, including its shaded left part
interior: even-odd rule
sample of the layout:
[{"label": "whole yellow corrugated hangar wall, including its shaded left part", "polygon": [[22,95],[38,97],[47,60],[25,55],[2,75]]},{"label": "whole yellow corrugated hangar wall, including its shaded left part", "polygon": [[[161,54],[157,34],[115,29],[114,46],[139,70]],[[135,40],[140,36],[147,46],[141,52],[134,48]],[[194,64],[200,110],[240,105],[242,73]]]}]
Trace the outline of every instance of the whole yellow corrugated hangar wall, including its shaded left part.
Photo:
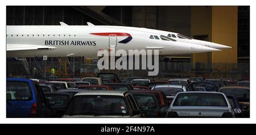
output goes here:
[{"label": "whole yellow corrugated hangar wall, including its shaded left part", "polygon": [[[197,62],[223,63],[212,64],[214,69],[233,68],[229,66],[222,67],[221,65],[237,63],[237,16],[237,6],[192,6],[191,37],[208,35],[210,42],[232,46],[232,49],[214,51],[209,55],[207,53],[193,54],[193,68],[195,68]],[[218,66],[216,67],[216,65]]]}]

